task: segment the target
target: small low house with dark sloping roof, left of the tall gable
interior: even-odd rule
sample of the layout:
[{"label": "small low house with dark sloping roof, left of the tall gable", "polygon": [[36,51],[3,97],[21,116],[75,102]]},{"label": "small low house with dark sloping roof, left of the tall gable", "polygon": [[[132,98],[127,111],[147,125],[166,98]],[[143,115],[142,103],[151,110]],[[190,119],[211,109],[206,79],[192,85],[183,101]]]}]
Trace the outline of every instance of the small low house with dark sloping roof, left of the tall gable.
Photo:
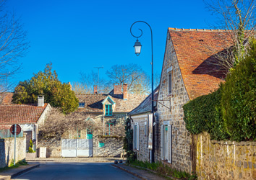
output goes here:
[{"label": "small low house with dark sloping roof, left of the tall gable", "polygon": [[[154,99],[158,99],[159,86],[154,90]],[[139,106],[128,113],[132,120],[133,128],[133,149],[137,152],[137,160],[151,161],[150,129],[152,128],[152,95],[150,94]],[[157,111],[156,101],[154,102],[154,112]]]}]

